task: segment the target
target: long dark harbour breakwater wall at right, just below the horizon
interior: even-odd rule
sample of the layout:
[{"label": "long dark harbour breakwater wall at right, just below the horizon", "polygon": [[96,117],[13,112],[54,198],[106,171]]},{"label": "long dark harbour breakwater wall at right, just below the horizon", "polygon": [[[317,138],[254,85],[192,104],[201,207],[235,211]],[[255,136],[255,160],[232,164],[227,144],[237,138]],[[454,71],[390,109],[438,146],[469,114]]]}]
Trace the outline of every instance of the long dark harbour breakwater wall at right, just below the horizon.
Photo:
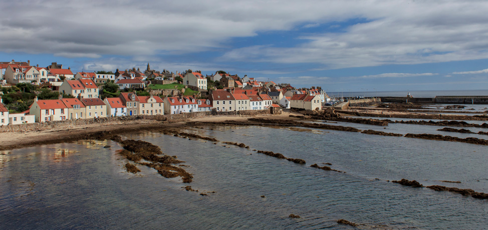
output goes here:
[{"label": "long dark harbour breakwater wall at right, just below the horizon", "polygon": [[407,97],[381,96],[382,102],[424,103],[424,104],[488,104],[488,96],[435,96]]}]

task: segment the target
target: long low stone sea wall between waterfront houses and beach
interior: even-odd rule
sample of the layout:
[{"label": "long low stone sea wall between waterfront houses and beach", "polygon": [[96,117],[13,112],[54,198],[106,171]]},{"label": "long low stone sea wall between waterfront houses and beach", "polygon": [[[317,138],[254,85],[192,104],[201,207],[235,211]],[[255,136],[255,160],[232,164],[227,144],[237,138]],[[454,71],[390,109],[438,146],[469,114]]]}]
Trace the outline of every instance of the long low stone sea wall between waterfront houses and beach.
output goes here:
[{"label": "long low stone sea wall between waterfront houses and beach", "polygon": [[[281,111],[280,111],[281,113]],[[0,126],[0,133],[2,132],[23,132],[23,131],[35,131],[44,129],[65,129],[70,128],[75,125],[84,124],[96,124],[96,123],[107,123],[113,121],[130,121],[138,119],[153,119],[167,122],[177,122],[181,119],[191,119],[191,118],[202,118],[206,116],[224,116],[224,115],[234,115],[234,116],[255,116],[255,115],[269,115],[270,109],[264,110],[242,110],[242,111],[205,111],[205,112],[186,112],[180,114],[167,114],[167,115],[134,115],[134,116],[115,116],[115,117],[101,117],[101,118],[91,118],[91,119],[71,119],[71,120],[59,120],[59,121],[48,121],[42,123],[25,123],[25,124],[11,124]],[[279,114],[279,113],[275,113]]]}]

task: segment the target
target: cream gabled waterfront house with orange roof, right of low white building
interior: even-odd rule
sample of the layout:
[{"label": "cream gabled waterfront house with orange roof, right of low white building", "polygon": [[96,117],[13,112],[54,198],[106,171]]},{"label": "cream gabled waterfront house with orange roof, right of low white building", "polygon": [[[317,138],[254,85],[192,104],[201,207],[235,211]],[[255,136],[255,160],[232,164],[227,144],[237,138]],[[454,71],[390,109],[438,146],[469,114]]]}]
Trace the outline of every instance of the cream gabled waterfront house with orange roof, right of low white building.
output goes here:
[{"label": "cream gabled waterfront house with orange roof, right of low white building", "polygon": [[66,120],[68,107],[60,99],[38,100],[37,96],[29,109],[30,115],[36,116],[36,122]]}]

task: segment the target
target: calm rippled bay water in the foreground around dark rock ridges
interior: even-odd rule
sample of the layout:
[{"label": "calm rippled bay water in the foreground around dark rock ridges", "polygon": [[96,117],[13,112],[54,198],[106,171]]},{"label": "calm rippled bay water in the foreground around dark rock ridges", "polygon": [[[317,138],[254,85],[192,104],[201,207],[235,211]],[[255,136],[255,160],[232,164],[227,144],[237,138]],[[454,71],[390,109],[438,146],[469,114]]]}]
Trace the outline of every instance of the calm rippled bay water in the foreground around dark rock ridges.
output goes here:
[{"label": "calm rippled bay water in the foreground around dark rock ridges", "polygon": [[[388,126],[388,131],[406,128]],[[410,126],[419,132],[431,127]],[[366,128],[366,127],[364,127]],[[369,127],[368,127],[369,128]],[[441,127],[440,127],[441,128]],[[355,132],[190,128],[223,146],[157,132],[128,134],[185,160],[193,182],[124,170],[112,141],[0,152],[2,229],[485,229],[488,201],[387,182],[416,179],[488,192],[487,146]],[[103,148],[105,144],[111,148]],[[300,165],[252,149],[302,158]],[[329,162],[334,169],[312,168]],[[375,179],[378,178],[378,179]],[[458,180],[445,183],[438,180]],[[185,191],[191,185],[199,192]],[[211,193],[215,191],[215,193]],[[264,195],[265,197],[261,197]],[[288,216],[298,214],[302,218]]]}]

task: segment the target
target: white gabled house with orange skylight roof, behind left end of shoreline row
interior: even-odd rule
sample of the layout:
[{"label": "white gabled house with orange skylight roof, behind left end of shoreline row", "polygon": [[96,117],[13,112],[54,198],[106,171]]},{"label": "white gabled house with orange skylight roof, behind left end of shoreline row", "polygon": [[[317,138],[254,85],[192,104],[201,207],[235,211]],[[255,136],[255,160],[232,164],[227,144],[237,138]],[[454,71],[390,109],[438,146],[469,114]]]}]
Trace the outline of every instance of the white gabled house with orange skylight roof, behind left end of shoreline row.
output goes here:
[{"label": "white gabled house with orange skylight roof, behind left end of shoreline row", "polygon": [[100,91],[92,79],[68,80],[65,79],[59,87],[61,93],[73,95],[74,97],[98,97]]}]

